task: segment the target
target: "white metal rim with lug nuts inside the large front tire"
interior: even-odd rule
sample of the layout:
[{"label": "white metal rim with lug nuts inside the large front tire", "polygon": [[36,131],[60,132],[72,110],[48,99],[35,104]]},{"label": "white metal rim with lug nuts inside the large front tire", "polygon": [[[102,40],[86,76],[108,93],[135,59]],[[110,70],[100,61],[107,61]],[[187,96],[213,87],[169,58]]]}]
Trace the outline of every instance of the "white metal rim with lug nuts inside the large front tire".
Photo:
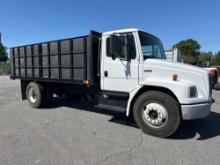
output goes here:
[{"label": "white metal rim with lug nuts inside the large front tire", "polygon": [[168,113],[163,105],[151,102],[144,104],[142,109],[142,117],[147,125],[155,128],[160,128],[166,125],[168,121]]}]

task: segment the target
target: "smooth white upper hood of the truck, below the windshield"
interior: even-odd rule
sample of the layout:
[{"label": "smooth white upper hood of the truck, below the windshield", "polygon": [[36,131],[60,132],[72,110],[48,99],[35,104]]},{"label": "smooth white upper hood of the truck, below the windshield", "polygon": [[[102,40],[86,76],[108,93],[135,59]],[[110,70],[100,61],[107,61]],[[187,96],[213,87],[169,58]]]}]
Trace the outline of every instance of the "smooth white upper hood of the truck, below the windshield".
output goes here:
[{"label": "smooth white upper hood of the truck, below the windshield", "polygon": [[161,59],[147,59],[143,65],[143,79],[161,79],[173,81],[173,74],[177,74],[178,82],[190,83],[196,86],[201,95],[210,95],[210,82],[208,71],[196,66],[169,62]]}]

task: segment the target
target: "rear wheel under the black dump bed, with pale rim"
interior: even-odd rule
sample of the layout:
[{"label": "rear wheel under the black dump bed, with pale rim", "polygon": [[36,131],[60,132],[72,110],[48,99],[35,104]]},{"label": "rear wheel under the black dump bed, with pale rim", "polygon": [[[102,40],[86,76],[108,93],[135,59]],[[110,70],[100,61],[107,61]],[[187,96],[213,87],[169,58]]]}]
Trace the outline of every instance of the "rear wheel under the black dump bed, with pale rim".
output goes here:
[{"label": "rear wheel under the black dump bed, with pale rim", "polygon": [[41,108],[47,103],[47,94],[40,84],[30,82],[26,88],[28,103],[33,108]]}]

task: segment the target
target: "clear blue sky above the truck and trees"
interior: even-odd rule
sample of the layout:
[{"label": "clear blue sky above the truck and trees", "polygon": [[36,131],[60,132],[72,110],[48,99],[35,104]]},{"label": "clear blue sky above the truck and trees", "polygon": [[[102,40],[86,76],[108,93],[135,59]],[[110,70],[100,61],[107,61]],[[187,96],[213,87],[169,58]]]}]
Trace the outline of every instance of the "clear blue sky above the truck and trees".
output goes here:
[{"label": "clear blue sky above the truck and trees", "polygon": [[165,49],[193,38],[201,51],[220,51],[219,0],[0,0],[6,47],[136,27]]}]

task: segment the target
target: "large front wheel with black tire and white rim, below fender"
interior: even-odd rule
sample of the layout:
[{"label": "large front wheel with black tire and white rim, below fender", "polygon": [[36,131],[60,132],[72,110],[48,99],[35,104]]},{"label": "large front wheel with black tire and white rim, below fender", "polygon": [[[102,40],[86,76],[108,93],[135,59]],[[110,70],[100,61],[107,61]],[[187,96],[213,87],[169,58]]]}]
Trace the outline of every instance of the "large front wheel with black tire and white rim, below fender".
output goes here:
[{"label": "large front wheel with black tire and white rim, below fender", "polygon": [[141,130],[156,137],[168,137],[181,121],[178,102],[160,91],[141,94],[134,103],[133,116]]}]

